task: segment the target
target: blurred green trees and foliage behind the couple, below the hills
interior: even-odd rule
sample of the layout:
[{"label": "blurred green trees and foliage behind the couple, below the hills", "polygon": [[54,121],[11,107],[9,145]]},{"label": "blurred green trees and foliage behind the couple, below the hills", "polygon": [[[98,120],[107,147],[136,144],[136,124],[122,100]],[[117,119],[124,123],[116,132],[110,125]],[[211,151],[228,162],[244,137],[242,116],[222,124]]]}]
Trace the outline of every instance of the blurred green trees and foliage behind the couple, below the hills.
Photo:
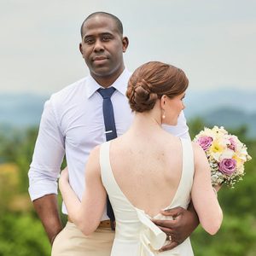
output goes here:
[{"label": "blurred green trees and foliage behind the couple, below the hills", "polygon": [[[191,119],[191,137],[203,129],[202,119]],[[226,127],[227,128],[227,127]],[[246,176],[235,189],[222,188],[218,199],[224,211],[224,222],[216,236],[209,236],[198,227],[191,241],[197,256],[256,255],[256,140],[248,139],[247,127],[236,134],[247,144],[253,160],[246,164]],[[0,134],[0,255],[50,255],[50,246],[43,226],[33,210],[27,188],[27,171],[38,128]],[[59,195],[61,206],[61,198]],[[62,216],[65,224],[65,216]]]}]

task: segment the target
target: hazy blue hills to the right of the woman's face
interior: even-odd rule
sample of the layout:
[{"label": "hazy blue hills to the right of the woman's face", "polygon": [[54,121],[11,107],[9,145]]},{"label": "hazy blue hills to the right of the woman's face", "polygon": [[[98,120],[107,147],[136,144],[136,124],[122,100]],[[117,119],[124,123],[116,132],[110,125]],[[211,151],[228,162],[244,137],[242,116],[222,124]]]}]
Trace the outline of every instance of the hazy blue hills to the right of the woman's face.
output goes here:
[{"label": "hazy blue hills to the right of the woman's face", "polygon": [[248,137],[256,137],[256,91],[188,91],[184,113],[187,119],[201,117],[209,125],[236,129],[247,125]]}]

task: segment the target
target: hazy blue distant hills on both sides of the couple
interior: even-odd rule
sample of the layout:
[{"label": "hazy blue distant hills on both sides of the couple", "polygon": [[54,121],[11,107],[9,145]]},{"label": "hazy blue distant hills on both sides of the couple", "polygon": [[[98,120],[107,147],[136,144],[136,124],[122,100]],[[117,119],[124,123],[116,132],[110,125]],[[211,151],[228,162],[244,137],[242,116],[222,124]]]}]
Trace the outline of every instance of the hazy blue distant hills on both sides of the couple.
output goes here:
[{"label": "hazy blue distant hills on both sides of the couple", "polygon": [[[0,94],[0,129],[39,125],[44,102],[49,96]],[[256,91],[189,90],[184,111],[187,119],[201,117],[207,124],[236,128],[247,125],[250,137],[256,137]]]}]

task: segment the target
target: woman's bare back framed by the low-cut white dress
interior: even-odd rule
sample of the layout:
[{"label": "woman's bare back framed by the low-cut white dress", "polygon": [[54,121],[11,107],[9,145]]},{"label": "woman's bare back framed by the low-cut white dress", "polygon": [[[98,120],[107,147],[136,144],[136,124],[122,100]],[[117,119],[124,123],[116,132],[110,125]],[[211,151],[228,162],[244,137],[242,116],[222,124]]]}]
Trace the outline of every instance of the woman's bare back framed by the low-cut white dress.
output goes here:
[{"label": "woman's bare back framed by the low-cut white dress", "polygon": [[110,163],[119,188],[131,204],[154,217],[170,205],[177,191],[182,145],[166,131],[154,137],[126,133],[111,143]]}]

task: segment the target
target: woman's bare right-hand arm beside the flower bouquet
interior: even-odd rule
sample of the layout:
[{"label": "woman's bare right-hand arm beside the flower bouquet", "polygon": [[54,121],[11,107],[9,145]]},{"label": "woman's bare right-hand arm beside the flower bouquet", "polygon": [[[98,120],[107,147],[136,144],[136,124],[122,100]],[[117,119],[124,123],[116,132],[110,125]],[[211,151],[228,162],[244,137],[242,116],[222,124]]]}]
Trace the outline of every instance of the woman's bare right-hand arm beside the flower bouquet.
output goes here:
[{"label": "woman's bare right-hand arm beside the flower bouquet", "polygon": [[217,195],[212,189],[211,170],[206,154],[202,148],[193,143],[195,156],[195,176],[192,187],[192,201],[199,221],[209,234],[217,233],[222,223],[222,210],[218,204]]}]

